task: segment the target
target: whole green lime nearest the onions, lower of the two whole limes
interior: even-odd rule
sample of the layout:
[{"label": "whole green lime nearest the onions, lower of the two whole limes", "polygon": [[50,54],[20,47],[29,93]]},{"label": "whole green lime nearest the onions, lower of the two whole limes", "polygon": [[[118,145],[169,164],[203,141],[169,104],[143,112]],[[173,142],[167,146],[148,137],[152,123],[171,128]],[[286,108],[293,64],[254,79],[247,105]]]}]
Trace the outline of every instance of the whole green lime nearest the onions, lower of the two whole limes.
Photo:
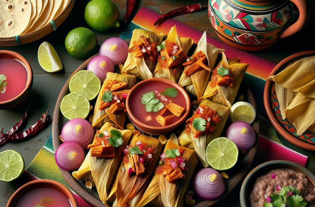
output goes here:
[{"label": "whole green lime nearest the onions, lower of the two whole limes", "polygon": [[97,49],[97,39],[91,30],[78,27],[66,36],[66,48],[72,57],[84,59],[92,56]]}]

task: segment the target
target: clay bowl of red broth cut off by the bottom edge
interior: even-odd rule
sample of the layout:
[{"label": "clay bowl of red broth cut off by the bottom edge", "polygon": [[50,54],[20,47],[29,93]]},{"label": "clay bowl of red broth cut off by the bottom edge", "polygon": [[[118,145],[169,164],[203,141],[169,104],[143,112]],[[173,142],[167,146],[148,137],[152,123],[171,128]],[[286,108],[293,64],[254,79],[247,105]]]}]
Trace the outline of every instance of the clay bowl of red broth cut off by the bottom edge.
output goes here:
[{"label": "clay bowl of red broth cut off by the bottom edge", "polygon": [[6,207],[78,207],[73,193],[54,180],[34,180],[17,189]]}]

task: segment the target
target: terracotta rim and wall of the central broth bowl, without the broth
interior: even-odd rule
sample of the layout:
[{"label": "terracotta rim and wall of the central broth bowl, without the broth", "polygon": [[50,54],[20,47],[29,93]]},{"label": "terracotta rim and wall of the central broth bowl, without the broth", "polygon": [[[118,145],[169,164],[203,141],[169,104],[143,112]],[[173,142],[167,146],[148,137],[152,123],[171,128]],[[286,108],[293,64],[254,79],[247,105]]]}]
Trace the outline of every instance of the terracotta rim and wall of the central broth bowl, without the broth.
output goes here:
[{"label": "terracotta rim and wall of the central broth bowl, without the broth", "polygon": [[[166,82],[171,84],[174,88],[176,88],[178,90],[179,93],[182,93],[185,97],[186,103],[187,103],[187,107],[186,107],[186,112],[185,114],[180,118],[180,120],[178,120],[177,122],[175,122],[174,124],[171,124],[169,126],[165,126],[165,127],[152,127],[149,126],[143,122],[140,122],[134,114],[132,114],[131,109],[130,109],[130,97],[133,95],[133,93],[140,88],[141,86],[147,84],[147,83],[151,83],[151,82]],[[171,131],[174,131],[175,129],[177,129],[187,118],[188,114],[190,113],[190,98],[189,95],[187,94],[186,90],[183,89],[183,87],[181,87],[180,85],[176,84],[175,82],[168,80],[168,79],[164,79],[164,78],[151,78],[151,79],[146,79],[141,81],[140,83],[136,84],[128,93],[127,99],[126,99],[126,108],[127,108],[127,113],[129,118],[131,119],[131,121],[140,129],[142,129],[143,131],[149,132],[149,133],[153,133],[153,134],[165,134],[165,133],[169,133]]]}]

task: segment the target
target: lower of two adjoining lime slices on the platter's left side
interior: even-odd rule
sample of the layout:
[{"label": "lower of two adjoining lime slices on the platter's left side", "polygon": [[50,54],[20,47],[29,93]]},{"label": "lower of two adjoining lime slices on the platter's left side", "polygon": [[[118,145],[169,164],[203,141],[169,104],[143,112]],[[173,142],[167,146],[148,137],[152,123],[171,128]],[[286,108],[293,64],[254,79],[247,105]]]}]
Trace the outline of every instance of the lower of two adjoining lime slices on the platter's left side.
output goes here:
[{"label": "lower of two adjoining lime slices on the platter's left side", "polygon": [[67,119],[85,119],[90,112],[90,102],[84,95],[70,93],[63,97],[60,111]]}]

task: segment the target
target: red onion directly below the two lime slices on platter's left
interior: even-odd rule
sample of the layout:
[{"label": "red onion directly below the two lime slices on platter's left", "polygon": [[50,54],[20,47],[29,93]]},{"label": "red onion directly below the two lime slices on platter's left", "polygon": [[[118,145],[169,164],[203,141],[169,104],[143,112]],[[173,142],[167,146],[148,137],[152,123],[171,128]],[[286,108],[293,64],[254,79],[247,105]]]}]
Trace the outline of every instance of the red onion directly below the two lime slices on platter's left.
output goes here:
[{"label": "red onion directly below the two lime slices on platter's left", "polygon": [[63,126],[61,136],[63,142],[75,141],[86,149],[94,138],[94,128],[87,120],[74,118]]}]

